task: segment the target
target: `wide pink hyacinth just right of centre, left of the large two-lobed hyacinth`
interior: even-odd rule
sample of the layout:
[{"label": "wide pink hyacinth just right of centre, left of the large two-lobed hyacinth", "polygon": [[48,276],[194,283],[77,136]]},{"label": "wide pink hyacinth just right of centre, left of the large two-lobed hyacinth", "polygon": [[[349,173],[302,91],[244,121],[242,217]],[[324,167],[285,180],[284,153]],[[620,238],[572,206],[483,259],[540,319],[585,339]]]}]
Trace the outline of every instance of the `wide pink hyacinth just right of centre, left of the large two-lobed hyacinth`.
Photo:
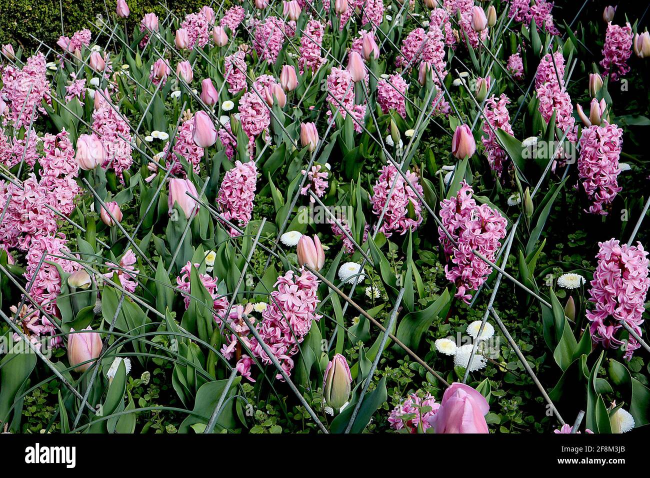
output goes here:
[{"label": "wide pink hyacinth just right of centre, left of the large two-lobed hyacinth", "polygon": [[[413,185],[415,191],[422,196],[424,192],[422,191],[422,185],[418,182],[417,174],[407,171],[405,176]],[[395,183],[394,188],[393,183]],[[377,182],[372,187],[372,197],[370,198],[372,212],[380,216],[383,207],[387,204],[382,226],[380,227],[380,231],[386,237],[391,237],[393,232],[404,235],[409,230],[415,231],[422,223],[422,204],[413,189],[411,189],[411,185],[398,173],[395,166],[389,165],[383,166]],[[391,188],[393,194],[390,194]],[[409,206],[413,207],[414,219],[408,217]]]}]

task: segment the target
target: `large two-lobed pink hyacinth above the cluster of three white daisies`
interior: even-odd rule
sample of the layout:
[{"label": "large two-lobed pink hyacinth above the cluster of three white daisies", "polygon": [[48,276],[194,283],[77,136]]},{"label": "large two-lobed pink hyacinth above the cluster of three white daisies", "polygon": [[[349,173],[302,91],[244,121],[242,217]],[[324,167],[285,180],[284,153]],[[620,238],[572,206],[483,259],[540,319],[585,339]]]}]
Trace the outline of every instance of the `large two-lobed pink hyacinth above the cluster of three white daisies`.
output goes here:
[{"label": "large two-lobed pink hyacinth above the cluster of three white daisies", "polygon": [[445,229],[438,227],[440,243],[453,264],[452,267],[445,265],[445,276],[456,285],[455,297],[468,304],[472,296],[467,291],[478,289],[492,272],[492,268],[472,251],[493,262],[501,246],[500,239],[506,237],[508,224],[496,209],[487,204],[477,206],[473,193],[471,186],[463,180],[456,196],[440,203],[443,227],[456,245],[448,239]]}]

